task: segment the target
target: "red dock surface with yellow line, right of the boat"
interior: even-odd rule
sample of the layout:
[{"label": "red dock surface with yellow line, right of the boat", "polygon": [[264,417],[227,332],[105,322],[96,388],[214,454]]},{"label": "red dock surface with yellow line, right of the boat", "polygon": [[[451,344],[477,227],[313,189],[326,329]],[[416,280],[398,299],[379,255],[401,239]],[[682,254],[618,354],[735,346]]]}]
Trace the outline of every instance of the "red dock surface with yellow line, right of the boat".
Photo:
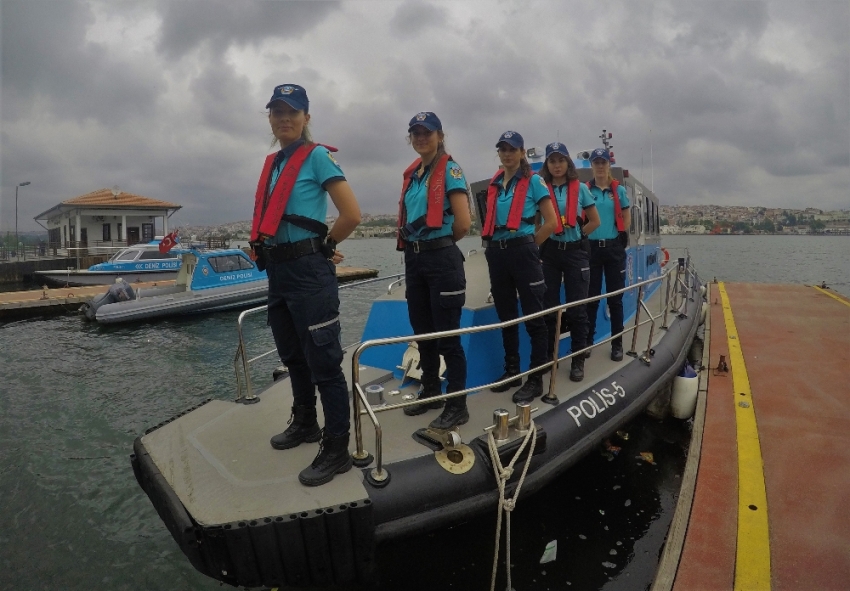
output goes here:
[{"label": "red dock surface with yellow line, right of the boat", "polygon": [[[712,285],[709,303],[693,505],[677,509],[681,557],[662,561],[653,589],[846,589],[850,301],[733,283]],[[721,356],[728,372],[717,370]]]}]

